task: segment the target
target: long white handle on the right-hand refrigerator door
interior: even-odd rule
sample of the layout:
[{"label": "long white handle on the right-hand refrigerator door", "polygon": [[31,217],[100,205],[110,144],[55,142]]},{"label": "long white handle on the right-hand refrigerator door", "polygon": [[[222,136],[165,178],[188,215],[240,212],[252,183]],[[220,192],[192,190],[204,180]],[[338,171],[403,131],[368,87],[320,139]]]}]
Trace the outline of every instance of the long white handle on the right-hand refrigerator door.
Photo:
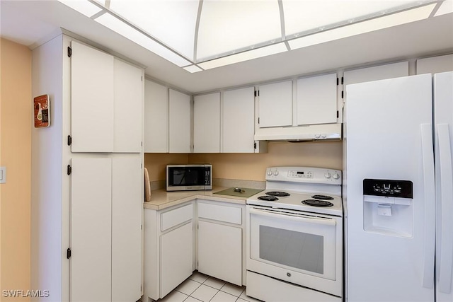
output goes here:
[{"label": "long white handle on the right-hand refrigerator door", "polygon": [[439,168],[440,168],[440,272],[439,290],[449,294],[452,284],[453,240],[446,240],[451,235],[453,223],[453,173],[452,149],[449,134],[449,124],[437,124],[439,141]]}]

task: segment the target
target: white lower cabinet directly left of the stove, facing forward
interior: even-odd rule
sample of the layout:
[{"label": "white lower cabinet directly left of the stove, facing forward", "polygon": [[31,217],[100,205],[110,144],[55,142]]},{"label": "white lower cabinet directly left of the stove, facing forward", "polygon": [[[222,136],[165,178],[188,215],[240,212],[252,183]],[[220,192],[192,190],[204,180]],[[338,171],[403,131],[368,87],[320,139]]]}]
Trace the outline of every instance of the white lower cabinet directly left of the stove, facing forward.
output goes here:
[{"label": "white lower cabinet directly left of the stove, facing forward", "polygon": [[197,207],[198,272],[242,286],[244,206],[199,199]]}]

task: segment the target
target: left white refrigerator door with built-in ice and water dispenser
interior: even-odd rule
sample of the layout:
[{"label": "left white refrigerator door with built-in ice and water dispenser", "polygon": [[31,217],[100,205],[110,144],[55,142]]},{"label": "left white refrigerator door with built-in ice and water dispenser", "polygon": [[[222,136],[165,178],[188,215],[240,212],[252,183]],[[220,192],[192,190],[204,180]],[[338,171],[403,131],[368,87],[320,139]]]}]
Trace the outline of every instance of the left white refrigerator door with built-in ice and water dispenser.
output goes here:
[{"label": "left white refrigerator door with built-in ice and water dispenser", "polygon": [[[434,301],[432,76],[346,91],[348,301]],[[365,198],[365,179],[411,181],[413,198],[389,202],[391,216],[379,215]]]}]

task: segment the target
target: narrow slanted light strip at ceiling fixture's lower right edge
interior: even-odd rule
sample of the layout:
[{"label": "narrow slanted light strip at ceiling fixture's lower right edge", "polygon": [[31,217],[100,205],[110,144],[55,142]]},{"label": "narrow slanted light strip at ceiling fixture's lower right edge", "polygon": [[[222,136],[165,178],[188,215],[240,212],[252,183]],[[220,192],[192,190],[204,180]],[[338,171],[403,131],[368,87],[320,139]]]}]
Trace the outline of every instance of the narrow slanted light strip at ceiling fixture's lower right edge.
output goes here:
[{"label": "narrow slanted light strip at ceiling fixture's lower right edge", "polygon": [[389,16],[374,18],[369,21],[363,21],[360,23],[343,26],[340,28],[335,28],[333,30],[326,30],[322,33],[299,37],[294,40],[289,40],[289,47],[294,50],[297,48],[338,40],[344,37],[352,37],[354,35],[360,35],[362,33],[369,33],[374,30],[390,28],[392,26],[410,23],[413,21],[420,21],[428,18],[435,6],[436,4],[430,4],[419,8],[413,8],[408,11],[402,11],[401,13],[393,13]]}]

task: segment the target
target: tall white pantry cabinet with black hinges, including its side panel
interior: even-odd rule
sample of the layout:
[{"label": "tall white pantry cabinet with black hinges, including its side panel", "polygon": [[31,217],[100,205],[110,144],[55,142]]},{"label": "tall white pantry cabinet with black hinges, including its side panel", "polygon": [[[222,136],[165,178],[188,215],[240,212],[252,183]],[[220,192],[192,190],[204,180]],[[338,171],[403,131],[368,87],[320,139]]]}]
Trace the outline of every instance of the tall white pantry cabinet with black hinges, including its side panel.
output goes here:
[{"label": "tall white pantry cabinet with black hinges, including its side panel", "polygon": [[33,50],[31,288],[45,301],[142,295],[143,69],[59,35]]}]

